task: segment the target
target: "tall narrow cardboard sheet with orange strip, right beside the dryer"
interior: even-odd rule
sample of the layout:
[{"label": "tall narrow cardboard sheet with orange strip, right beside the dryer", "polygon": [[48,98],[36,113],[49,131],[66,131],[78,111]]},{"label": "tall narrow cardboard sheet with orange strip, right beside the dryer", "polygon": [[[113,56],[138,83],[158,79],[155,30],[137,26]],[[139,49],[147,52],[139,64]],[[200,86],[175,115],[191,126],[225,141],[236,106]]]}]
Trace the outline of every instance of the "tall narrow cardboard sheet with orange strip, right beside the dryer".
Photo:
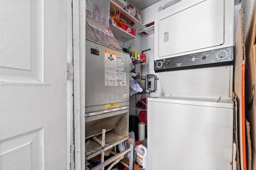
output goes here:
[{"label": "tall narrow cardboard sheet with orange strip, right beside the dryer", "polygon": [[244,47],[244,10],[239,10],[235,41],[234,93],[237,100],[238,144],[241,170],[246,167],[246,131],[245,131],[245,47]]}]

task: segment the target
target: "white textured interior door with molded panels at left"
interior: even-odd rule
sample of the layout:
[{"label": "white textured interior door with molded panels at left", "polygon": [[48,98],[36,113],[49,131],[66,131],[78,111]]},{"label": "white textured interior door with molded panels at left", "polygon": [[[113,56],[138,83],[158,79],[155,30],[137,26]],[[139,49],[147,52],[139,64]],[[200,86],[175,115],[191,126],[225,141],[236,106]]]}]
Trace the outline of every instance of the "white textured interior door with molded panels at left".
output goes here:
[{"label": "white textured interior door with molded panels at left", "polygon": [[65,170],[67,0],[0,0],[0,169]]}]

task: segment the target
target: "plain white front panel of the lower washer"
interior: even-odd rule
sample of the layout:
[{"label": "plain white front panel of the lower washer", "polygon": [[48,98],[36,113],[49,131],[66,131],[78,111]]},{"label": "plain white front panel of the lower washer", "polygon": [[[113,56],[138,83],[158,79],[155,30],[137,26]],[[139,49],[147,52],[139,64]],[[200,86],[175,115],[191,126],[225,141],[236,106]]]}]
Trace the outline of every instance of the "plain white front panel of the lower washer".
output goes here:
[{"label": "plain white front panel of the lower washer", "polygon": [[231,170],[233,109],[148,101],[148,170]]}]

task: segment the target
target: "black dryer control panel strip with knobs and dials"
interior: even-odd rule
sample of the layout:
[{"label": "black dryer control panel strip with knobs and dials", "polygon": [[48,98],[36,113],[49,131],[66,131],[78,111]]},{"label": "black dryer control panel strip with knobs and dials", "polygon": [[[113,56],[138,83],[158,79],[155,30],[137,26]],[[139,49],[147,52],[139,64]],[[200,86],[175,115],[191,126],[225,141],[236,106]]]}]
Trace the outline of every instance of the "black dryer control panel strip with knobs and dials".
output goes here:
[{"label": "black dryer control panel strip with knobs and dials", "polygon": [[194,69],[234,64],[234,47],[171,57],[154,61],[155,72]]}]

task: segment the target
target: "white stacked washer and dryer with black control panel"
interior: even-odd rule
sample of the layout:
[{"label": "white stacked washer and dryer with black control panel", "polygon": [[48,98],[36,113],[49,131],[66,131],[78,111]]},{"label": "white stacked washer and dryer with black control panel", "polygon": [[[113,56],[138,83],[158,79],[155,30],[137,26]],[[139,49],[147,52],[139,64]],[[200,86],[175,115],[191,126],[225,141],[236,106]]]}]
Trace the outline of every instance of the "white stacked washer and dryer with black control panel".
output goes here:
[{"label": "white stacked washer and dryer with black control panel", "polygon": [[182,0],[155,15],[148,170],[232,170],[234,0]]}]

